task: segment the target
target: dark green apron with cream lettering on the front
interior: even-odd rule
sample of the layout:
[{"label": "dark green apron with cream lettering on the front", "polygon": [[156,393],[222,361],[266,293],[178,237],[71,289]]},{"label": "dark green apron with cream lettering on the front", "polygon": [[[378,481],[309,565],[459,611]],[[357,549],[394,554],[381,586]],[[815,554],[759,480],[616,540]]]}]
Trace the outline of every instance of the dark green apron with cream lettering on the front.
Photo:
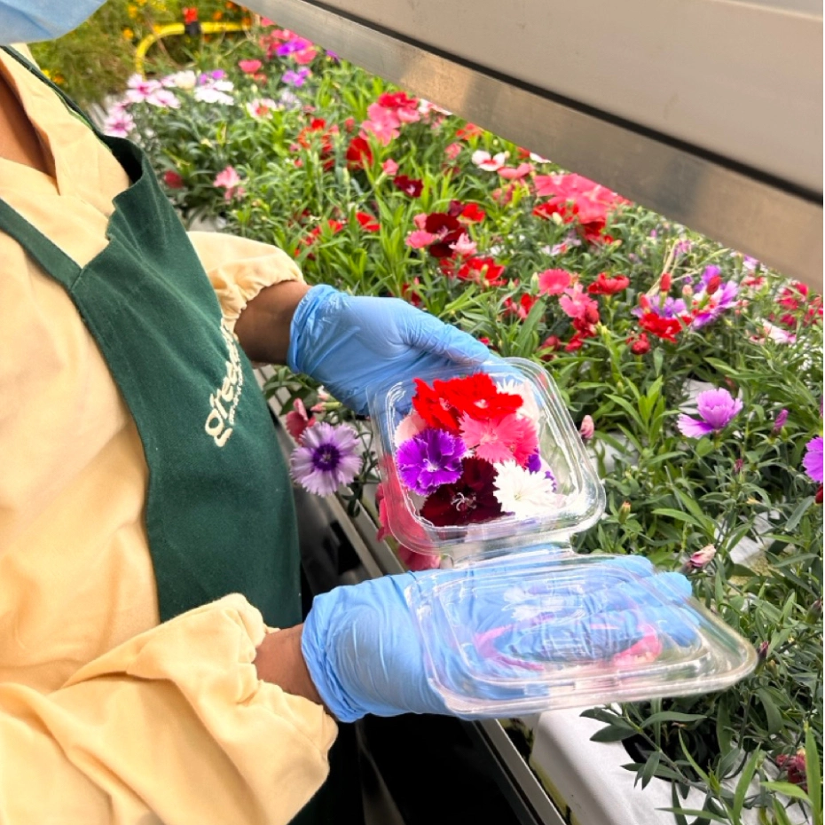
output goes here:
[{"label": "dark green apron with cream lettering on the front", "polygon": [[161,621],[243,593],[268,625],[296,625],[292,487],[252,366],[144,154],[97,134],[131,180],[102,252],[78,266],[3,200],[0,230],[66,289],[137,422]]}]

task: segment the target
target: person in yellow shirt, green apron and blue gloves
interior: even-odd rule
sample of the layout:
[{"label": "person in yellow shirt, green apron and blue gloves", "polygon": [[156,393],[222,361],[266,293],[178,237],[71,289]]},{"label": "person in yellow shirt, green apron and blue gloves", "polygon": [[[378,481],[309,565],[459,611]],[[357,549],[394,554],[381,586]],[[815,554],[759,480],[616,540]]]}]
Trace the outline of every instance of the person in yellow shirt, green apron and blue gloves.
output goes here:
[{"label": "person in yellow shirt, green apron and blue gloves", "polygon": [[[466,574],[335,588],[300,624],[251,361],[363,412],[377,382],[488,352],[396,299],[310,288],[279,249],[187,235],[137,146],[7,47],[97,5],[0,3],[0,821],[283,823],[336,719],[450,712],[405,588]],[[585,646],[638,638],[599,612]]]}]

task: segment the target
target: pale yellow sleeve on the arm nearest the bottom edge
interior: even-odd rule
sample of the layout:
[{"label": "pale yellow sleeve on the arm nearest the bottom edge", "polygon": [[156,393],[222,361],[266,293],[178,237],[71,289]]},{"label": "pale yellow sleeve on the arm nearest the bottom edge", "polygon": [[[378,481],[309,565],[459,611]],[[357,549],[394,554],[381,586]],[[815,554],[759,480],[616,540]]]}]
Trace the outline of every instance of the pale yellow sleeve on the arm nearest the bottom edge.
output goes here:
[{"label": "pale yellow sleeve on the arm nearest the bottom edge", "polygon": [[58,690],[0,685],[0,821],[287,823],[326,778],[323,709],[257,679],[240,595],[141,633]]}]

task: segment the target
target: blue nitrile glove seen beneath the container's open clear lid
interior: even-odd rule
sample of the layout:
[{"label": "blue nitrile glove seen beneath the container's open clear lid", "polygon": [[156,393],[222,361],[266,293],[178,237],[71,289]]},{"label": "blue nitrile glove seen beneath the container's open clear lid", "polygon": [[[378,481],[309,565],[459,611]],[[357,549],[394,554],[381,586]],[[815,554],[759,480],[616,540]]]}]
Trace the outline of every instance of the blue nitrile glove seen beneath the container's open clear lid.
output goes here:
[{"label": "blue nitrile glove seen beneath the container's open clear lid", "polygon": [[[460,615],[452,620],[473,629],[475,644],[472,651],[466,645],[431,649],[440,671],[464,672],[463,660],[478,656],[488,672],[492,662],[506,678],[519,675],[513,664],[517,661],[520,675],[529,678],[530,658],[545,664],[609,660],[651,631],[672,644],[696,640],[695,615],[685,604],[690,596],[687,578],[655,574],[647,560],[637,557],[617,557],[603,564],[588,576],[587,593],[548,577],[522,599],[500,593],[495,578],[501,568],[494,566],[405,573],[336,587],[313,602],[303,625],[303,656],[326,707],[337,719],[351,722],[367,713],[452,713],[428,681],[405,595],[410,588],[417,590],[418,601],[444,585],[467,589],[468,597],[454,606]],[[616,586],[617,571],[640,581]],[[506,691],[491,683],[485,698],[512,698],[512,691]],[[479,715],[474,711],[468,718]]]}]

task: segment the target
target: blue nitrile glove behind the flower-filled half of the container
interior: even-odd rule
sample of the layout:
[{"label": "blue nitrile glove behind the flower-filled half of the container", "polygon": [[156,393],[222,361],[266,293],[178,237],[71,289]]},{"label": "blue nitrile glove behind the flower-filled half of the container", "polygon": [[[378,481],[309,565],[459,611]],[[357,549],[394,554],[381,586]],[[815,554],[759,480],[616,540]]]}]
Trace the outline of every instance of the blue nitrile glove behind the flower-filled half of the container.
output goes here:
[{"label": "blue nitrile glove behind the flower-filled half of the container", "polygon": [[365,414],[371,388],[440,366],[474,367],[487,358],[483,343],[405,301],[319,286],[295,310],[287,365]]}]

